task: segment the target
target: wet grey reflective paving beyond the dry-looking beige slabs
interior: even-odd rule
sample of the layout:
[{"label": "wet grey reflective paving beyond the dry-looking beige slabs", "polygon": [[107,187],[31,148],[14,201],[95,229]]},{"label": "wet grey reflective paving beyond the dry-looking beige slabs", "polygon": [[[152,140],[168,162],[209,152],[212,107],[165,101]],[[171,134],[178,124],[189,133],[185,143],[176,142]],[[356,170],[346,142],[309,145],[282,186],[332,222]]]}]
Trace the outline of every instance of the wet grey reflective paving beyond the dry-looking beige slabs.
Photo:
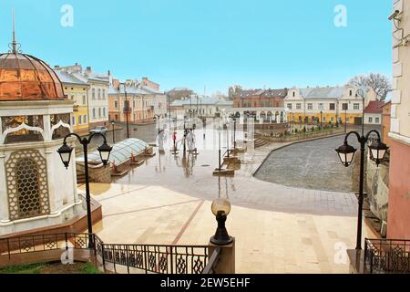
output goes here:
[{"label": "wet grey reflective paving beyond the dry-looking beige slabs", "polygon": [[[205,133],[205,139],[203,139]],[[299,212],[306,214],[353,215],[355,197],[349,190],[330,192],[305,187],[286,186],[281,183],[264,182],[253,177],[272,149],[283,143],[271,144],[255,151],[251,158],[242,157],[241,170],[234,177],[215,177],[212,172],[218,167],[218,135],[212,126],[195,130],[197,156],[182,151],[179,145],[178,155],[173,155],[169,133],[164,139],[164,151],[155,148],[157,155],[148,159],[140,167],[132,169],[114,183],[145,184],[160,186],[173,192],[184,193],[199,199],[212,201],[218,196],[229,197],[231,203],[271,211]],[[177,140],[182,137],[179,130]],[[241,140],[241,133],[237,134]],[[341,138],[335,139],[340,141]],[[222,153],[226,151],[226,132],[221,135]],[[333,145],[328,145],[334,151]],[[286,149],[286,148],[285,148]],[[288,158],[289,159],[289,158]],[[322,158],[319,158],[319,161]],[[343,170],[345,171],[345,170]],[[282,169],[282,172],[286,172]],[[320,171],[317,171],[320,173]],[[322,173],[326,175],[325,171]],[[329,174],[327,174],[329,175]],[[337,176],[337,175],[335,175]]]}]

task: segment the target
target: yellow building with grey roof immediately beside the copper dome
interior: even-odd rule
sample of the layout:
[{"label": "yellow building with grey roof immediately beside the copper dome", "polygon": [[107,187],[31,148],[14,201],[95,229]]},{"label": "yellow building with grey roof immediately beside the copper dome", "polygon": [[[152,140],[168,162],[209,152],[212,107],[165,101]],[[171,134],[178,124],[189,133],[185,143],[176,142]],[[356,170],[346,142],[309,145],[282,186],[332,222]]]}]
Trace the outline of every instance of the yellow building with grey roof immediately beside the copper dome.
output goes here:
[{"label": "yellow building with grey roof immediately beside the copper dome", "polygon": [[60,79],[64,94],[68,99],[74,100],[74,111],[71,120],[74,132],[78,135],[86,135],[89,132],[88,122],[88,89],[89,85],[66,71],[56,69],[56,74]]}]

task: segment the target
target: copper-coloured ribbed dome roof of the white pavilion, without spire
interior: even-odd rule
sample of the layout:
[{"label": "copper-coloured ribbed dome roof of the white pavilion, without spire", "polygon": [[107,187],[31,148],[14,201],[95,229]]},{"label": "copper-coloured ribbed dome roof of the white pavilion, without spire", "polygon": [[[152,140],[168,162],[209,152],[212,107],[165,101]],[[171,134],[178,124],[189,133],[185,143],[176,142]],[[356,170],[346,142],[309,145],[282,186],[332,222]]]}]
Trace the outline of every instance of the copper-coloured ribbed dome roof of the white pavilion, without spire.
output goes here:
[{"label": "copper-coloured ribbed dome roof of the white pavilion, without spire", "polygon": [[67,99],[44,61],[16,51],[0,55],[0,101]]}]

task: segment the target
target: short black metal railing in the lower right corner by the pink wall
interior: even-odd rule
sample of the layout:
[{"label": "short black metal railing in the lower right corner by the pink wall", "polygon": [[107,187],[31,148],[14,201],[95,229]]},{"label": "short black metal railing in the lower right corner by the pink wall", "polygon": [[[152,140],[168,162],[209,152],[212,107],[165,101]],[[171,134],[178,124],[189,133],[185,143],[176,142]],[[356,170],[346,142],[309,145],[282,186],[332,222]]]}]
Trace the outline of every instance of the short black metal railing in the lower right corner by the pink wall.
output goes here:
[{"label": "short black metal railing in the lower right corner by the pink wall", "polygon": [[364,267],[371,274],[410,273],[410,240],[366,238]]}]

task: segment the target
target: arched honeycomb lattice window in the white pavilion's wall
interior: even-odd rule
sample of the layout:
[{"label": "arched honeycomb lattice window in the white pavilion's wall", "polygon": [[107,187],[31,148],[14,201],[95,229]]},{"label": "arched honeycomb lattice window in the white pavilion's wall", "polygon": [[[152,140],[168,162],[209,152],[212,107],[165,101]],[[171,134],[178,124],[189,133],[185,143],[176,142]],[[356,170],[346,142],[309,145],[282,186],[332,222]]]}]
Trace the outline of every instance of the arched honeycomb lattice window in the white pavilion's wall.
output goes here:
[{"label": "arched honeycomb lattice window in the white pavilion's wall", "polygon": [[35,217],[41,212],[38,170],[34,159],[23,158],[15,165],[18,217]]}]

